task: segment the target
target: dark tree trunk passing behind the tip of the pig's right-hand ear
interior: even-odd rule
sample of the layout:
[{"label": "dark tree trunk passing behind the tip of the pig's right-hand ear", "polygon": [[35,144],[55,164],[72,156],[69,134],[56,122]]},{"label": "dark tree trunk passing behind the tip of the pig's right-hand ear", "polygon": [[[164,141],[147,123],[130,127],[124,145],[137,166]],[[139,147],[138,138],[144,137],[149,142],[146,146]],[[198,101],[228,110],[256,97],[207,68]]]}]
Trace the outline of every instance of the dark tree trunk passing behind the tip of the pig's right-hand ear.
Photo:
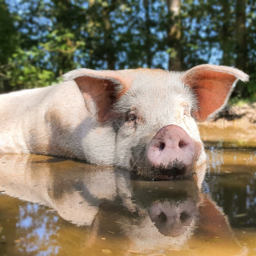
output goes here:
[{"label": "dark tree trunk passing behind the tip of the pig's right-hand ear", "polygon": [[[246,44],[246,1],[236,2],[236,68],[246,72],[247,44]],[[235,88],[238,97],[243,97],[244,84],[238,83]]]}]

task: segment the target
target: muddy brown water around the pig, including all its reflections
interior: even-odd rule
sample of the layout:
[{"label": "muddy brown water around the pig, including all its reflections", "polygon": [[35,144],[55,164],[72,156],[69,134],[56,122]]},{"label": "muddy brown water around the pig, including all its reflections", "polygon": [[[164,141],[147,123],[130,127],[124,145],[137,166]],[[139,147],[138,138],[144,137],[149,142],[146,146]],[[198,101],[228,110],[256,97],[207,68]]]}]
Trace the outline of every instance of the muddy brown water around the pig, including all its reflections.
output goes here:
[{"label": "muddy brown water around the pig, including all its reflections", "polygon": [[0,255],[256,255],[256,136],[201,132],[202,184],[1,155]]}]

